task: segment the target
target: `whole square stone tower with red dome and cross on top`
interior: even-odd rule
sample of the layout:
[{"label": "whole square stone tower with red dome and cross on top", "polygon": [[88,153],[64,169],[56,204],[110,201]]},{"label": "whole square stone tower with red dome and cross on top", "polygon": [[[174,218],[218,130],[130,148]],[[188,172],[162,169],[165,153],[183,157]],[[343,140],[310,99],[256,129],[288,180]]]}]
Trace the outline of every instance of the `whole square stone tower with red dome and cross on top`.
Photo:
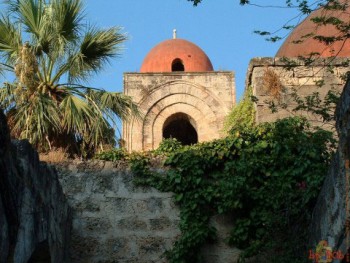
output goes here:
[{"label": "whole square stone tower with red dome and cross on top", "polygon": [[235,103],[234,74],[214,71],[195,44],[176,39],[156,45],[139,73],[124,73],[124,93],[138,103],[142,119],[123,123],[128,151],[156,149],[163,138],[188,145],[221,137]]}]

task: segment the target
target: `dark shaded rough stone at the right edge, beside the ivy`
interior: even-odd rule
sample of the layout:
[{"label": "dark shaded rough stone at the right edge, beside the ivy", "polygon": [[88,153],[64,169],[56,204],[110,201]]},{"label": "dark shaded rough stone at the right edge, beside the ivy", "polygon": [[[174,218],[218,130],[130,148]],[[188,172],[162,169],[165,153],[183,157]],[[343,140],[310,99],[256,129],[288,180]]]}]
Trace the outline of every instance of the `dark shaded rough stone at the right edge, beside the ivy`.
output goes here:
[{"label": "dark shaded rough stone at the right edge, beside the ivy", "polygon": [[350,83],[342,93],[336,111],[339,147],[313,211],[310,228],[310,249],[326,240],[333,251],[346,253],[350,234],[346,232],[349,206],[349,149],[350,149]]}]

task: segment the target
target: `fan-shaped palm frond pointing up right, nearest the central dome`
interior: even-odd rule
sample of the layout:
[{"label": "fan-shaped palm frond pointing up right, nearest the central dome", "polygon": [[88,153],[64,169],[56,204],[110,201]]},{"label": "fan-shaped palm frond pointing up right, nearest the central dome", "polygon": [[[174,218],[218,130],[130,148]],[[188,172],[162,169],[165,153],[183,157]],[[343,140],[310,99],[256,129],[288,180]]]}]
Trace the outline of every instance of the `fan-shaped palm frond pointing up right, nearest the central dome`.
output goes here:
[{"label": "fan-shaped palm frond pointing up right, nearest the central dome", "polygon": [[98,72],[111,58],[120,55],[120,45],[126,35],[119,27],[107,30],[90,28],[80,44],[79,50],[70,59],[70,80],[82,79]]}]

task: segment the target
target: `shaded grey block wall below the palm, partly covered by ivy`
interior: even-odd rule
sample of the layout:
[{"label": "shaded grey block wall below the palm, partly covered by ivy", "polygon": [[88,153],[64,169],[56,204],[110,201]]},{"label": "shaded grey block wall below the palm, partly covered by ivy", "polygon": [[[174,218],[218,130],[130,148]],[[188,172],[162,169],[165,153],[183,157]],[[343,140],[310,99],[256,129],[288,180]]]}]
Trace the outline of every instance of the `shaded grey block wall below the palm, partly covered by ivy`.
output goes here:
[{"label": "shaded grey block wall below the palm, partly covered by ivy", "polygon": [[[167,262],[163,254],[180,234],[171,193],[136,187],[132,173],[111,162],[66,164],[60,180],[73,209],[72,263]],[[219,241],[205,247],[205,262],[236,262],[239,250],[225,244],[229,218],[213,224]]]}]

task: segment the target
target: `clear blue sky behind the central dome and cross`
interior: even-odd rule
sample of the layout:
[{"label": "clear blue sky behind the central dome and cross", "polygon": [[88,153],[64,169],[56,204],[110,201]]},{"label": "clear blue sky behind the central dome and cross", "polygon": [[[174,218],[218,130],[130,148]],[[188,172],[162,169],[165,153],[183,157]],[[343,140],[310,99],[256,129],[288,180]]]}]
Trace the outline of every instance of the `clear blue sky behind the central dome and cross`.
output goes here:
[{"label": "clear blue sky behind the central dome and cross", "polygon": [[[282,5],[285,0],[251,2]],[[251,58],[274,56],[282,43],[267,42],[253,31],[273,31],[297,14],[291,9],[240,6],[239,0],[203,0],[197,7],[186,0],[85,0],[85,6],[86,18],[93,24],[121,26],[129,36],[122,56],[90,79],[91,86],[122,91],[123,73],[138,72],[151,48],[172,38],[176,28],[178,38],[204,50],[214,70],[235,72],[237,100]]]}]

